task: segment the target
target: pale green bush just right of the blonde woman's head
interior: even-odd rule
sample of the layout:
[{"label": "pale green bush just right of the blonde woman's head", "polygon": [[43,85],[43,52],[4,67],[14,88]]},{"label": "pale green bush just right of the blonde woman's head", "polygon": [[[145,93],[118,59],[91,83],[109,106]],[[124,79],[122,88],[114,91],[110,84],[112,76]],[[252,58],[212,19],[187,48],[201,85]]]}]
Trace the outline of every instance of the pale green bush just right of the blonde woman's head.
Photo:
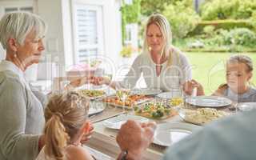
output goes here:
[{"label": "pale green bush just right of the blonde woman's head", "polygon": [[190,31],[194,30],[200,19],[192,8],[191,0],[176,2],[175,5],[166,6],[163,14],[170,22],[174,38],[186,37]]}]

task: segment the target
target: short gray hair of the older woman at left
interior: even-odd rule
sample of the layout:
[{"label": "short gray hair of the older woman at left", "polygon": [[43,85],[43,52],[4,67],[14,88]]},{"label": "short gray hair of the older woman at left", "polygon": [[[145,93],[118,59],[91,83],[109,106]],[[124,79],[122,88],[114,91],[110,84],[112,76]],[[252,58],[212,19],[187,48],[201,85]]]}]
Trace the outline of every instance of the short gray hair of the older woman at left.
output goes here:
[{"label": "short gray hair of the older woman at left", "polygon": [[46,34],[46,23],[36,14],[28,12],[13,12],[5,14],[0,21],[0,42],[7,49],[8,40],[14,38],[19,45],[24,45],[26,35],[34,31],[35,38]]}]

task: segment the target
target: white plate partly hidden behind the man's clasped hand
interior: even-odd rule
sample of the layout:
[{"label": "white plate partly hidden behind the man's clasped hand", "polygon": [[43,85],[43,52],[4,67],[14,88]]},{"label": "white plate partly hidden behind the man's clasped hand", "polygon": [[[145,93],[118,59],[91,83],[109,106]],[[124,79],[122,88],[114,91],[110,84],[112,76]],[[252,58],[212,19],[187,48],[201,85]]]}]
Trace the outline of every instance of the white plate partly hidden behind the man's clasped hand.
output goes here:
[{"label": "white plate partly hidden behind the man's clasped hand", "polygon": [[121,114],[114,118],[106,119],[103,125],[110,129],[119,130],[127,120],[134,120],[136,122],[149,122],[148,118],[143,118],[138,115]]}]

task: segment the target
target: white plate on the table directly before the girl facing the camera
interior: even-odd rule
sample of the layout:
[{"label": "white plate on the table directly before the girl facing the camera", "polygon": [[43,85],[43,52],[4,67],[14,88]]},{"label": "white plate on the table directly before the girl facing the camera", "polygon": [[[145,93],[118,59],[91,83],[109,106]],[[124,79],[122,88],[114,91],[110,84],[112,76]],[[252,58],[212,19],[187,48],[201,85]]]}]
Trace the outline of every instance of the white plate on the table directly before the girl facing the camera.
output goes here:
[{"label": "white plate on the table directly before the girl facing the camera", "polygon": [[230,106],[232,101],[228,98],[218,96],[196,96],[186,98],[186,103],[193,106],[218,108],[222,106]]}]

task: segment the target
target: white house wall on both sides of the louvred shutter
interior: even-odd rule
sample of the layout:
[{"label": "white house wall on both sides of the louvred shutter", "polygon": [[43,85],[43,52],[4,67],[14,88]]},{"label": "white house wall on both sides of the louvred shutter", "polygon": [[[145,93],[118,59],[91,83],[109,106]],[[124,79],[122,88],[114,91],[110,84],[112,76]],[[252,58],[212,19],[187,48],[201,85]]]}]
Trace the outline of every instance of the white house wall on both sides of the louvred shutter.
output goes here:
[{"label": "white house wall on both sides of the louvred shutter", "polygon": [[43,61],[65,64],[62,66],[65,70],[74,64],[74,35],[71,23],[72,2],[74,1],[102,5],[104,56],[114,61],[122,48],[121,13],[119,11],[121,0],[0,0],[0,4],[33,2],[35,12],[48,24],[44,40],[46,50]]}]

